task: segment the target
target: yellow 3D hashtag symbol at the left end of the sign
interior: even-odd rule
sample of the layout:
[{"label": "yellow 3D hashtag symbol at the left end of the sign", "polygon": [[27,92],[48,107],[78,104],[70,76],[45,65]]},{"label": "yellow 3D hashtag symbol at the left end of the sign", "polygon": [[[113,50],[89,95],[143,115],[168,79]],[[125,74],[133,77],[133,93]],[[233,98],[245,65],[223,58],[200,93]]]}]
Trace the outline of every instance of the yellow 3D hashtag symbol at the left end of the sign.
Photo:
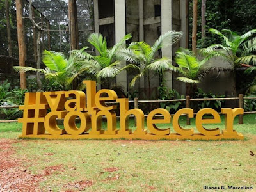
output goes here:
[{"label": "yellow 3D hashtag symbol at the left end of the sign", "polygon": [[24,106],[19,106],[23,110],[23,118],[18,122],[22,123],[22,136],[29,134],[44,134],[44,117],[49,108],[45,96],[42,92],[25,93]]}]

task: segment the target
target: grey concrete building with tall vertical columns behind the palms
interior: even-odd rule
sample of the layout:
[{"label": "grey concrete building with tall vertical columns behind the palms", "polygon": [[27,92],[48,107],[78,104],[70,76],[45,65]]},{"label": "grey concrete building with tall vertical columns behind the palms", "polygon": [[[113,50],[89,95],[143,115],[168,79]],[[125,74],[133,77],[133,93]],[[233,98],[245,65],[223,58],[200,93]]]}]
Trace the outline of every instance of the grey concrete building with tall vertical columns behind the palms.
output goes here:
[{"label": "grey concrete building with tall vertical columns behind the palms", "polygon": [[[131,42],[145,41],[152,45],[161,33],[172,29],[183,31],[179,44],[162,49],[157,55],[173,57],[177,48],[188,45],[188,9],[187,0],[94,0],[95,32],[106,36],[108,45],[113,46],[127,33],[132,34]],[[133,76],[123,71],[116,77],[116,84],[130,90]],[[175,74],[168,72],[165,79],[168,88],[185,94],[185,85],[176,80]],[[154,77],[151,87],[152,92],[157,92],[159,76]],[[145,78],[133,88],[144,92],[147,89]]]}]

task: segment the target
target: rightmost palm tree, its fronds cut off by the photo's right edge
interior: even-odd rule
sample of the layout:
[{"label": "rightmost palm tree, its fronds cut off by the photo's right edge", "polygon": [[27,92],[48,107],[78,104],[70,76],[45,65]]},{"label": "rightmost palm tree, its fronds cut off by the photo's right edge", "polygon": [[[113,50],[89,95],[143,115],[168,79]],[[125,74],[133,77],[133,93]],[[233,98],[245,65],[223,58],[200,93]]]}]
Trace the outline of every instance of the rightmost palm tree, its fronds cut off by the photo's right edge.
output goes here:
[{"label": "rightmost palm tree, its fronds cut off by the photo's right edge", "polygon": [[219,35],[223,38],[222,44],[213,44],[207,48],[201,49],[201,54],[213,55],[221,57],[228,61],[233,69],[245,65],[256,65],[256,37],[251,38],[256,29],[244,33],[244,35],[237,35],[234,31],[222,30],[221,32],[216,29],[209,29],[209,32]]}]

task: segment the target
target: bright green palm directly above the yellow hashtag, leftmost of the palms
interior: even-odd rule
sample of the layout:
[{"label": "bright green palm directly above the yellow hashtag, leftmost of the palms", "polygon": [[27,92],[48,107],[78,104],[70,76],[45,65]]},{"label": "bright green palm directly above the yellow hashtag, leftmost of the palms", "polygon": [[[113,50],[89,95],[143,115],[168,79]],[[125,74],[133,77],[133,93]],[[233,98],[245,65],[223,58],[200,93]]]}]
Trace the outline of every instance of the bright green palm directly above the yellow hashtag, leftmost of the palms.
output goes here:
[{"label": "bright green palm directly above the yellow hashtag, leftmost of the palms", "polygon": [[74,64],[74,57],[66,59],[63,53],[54,51],[44,51],[42,53],[42,61],[45,64],[44,69],[36,69],[33,67],[13,67],[19,73],[28,71],[40,72],[44,74],[46,79],[56,81],[63,90],[68,90],[72,81],[77,77],[77,69]]}]

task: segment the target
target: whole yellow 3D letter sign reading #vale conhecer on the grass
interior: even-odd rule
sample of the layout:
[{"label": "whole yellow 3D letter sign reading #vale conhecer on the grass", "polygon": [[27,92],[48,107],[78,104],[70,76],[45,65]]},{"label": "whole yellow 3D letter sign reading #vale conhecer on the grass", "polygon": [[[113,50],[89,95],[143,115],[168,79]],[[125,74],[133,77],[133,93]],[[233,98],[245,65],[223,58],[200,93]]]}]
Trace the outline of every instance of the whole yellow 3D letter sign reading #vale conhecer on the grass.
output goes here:
[{"label": "whole yellow 3D letter sign reading #vale conhecer on the grass", "polygon": [[[145,129],[145,117],[141,109],[129,110],[128,99],[118,99],[113,90],[99,90],[96,92],[95,81],[84,81],[86,93],[81,91],[38,92],[26,93],[23,110],[23,118],[19,122],[23,124],[21,138],[49,138],[49,139],[142,139],[142,140],[221,140],[239,139],[244,136],[233,130],[234,118],[243,114],[241,108],[223,108],[221,113],[225,115],[225,130],[221,131],[213,125],[220,124],[220,115],[211,108],[198,111],[195,122],[196,129],[188,129],[179,124],[181,115],[194,117],[193,109],[180,109],[171,118],[166,109],[155,109],[147,117]],[[116,104],[108,105],[106,102],[115,101],[119,104],[120,128],[116,127]],[[129,116],[136,117],[136,129],[129,127]],[[161,115],[163,118],[156,118]],[[204,118],[211,115],[213,118]],[[102,127],[102,116],[106,117],[106,127]],[[80,119],[77,127],[76,118]],[[63,119],[64,128],[59,127],[57,118]],[[164,124],[159,125],[159,124]],[[169,124],[169,125],[166,125]],[[172,132],[170,127],[173,125]],[[165,126],[165,127],[163,127]],[[216,125],[215,125],[216,126]]]}]

